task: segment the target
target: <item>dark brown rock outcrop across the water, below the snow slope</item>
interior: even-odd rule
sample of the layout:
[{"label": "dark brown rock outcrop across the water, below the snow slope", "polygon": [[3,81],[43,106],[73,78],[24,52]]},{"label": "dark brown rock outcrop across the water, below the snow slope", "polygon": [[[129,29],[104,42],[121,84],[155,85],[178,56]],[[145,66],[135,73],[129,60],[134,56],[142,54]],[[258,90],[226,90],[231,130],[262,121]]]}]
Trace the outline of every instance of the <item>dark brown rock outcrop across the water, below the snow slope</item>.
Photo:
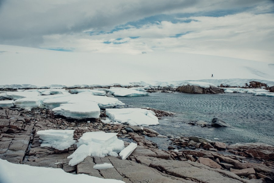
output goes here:
[{"label": "dark brown rock outcrop across the water, below the snow slope", "polygon": [[186,86],[179,86],[178,88],[176,88],[176,91],[179,92],[184,92],[184,93],[213,93],[213,94],[217,94],[217,93],[224,93],[224,90],[221,88],[217,88],[215,86],[209,86],[209,88],[202,88],[196,85],[186,85]]}]

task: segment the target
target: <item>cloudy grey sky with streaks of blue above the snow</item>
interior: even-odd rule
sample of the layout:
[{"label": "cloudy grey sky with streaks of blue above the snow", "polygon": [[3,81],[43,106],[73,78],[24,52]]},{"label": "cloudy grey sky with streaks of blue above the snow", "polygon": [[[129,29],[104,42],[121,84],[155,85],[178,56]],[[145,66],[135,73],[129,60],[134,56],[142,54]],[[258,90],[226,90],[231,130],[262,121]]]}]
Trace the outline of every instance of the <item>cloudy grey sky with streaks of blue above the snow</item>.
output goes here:
[{"label": "cloudy grey sky with streaks of blue above the snow", "polygon": [[0,0],[0,44],[274,63],[274,1]]}]

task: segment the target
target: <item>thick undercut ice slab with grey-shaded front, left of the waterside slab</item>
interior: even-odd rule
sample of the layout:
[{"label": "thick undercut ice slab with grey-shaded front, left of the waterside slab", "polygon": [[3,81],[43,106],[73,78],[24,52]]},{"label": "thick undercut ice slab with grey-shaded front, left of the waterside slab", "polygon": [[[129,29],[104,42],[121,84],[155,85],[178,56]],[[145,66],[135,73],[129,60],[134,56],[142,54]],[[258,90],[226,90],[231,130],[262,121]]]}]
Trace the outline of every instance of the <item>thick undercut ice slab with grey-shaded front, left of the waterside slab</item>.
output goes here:
[{"label": "thick undercut ice slab with grey-shaded front, left of the waterside slab", "polygon": [[74,119],[99,118],[100,108],[96,102],[79,102],[61,104],[52,109],[56,114]]}]

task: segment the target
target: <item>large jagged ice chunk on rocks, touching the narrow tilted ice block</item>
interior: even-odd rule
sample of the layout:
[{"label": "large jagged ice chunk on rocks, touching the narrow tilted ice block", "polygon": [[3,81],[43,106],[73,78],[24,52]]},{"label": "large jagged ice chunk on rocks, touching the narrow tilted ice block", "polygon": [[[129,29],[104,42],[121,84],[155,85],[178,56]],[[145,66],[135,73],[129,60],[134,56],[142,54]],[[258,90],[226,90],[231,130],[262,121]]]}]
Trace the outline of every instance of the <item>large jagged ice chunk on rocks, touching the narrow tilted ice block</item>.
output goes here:
[{"label": "large jagged ice chunk on rocks, touching the narrow tilted ice block", "polygon": [[84,133],[78,140],[76,151],[68,156],[72,158],[68,164],[74,166],[87,156],[118,156],[117,152],[124,149],[124,142],[116,135],[117,133],[105,133],[104,131]]}]

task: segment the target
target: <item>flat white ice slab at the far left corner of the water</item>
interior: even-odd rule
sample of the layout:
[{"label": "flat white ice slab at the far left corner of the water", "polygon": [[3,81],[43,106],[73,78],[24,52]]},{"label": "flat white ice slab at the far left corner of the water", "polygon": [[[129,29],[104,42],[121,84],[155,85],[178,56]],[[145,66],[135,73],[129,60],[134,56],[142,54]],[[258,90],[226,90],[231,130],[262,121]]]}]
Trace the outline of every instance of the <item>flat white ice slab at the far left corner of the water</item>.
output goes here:
[{"label": "flat white ice slab at the far left corner of the water", "polygon": [[131,88],[111,87],[107,91],[109,91],[112,95],[114,95],[116,97],[134,97],[134,96],[145,96],[145,95],[149,94],[148,92],[138,91],[138,90],[131,89]]}]

